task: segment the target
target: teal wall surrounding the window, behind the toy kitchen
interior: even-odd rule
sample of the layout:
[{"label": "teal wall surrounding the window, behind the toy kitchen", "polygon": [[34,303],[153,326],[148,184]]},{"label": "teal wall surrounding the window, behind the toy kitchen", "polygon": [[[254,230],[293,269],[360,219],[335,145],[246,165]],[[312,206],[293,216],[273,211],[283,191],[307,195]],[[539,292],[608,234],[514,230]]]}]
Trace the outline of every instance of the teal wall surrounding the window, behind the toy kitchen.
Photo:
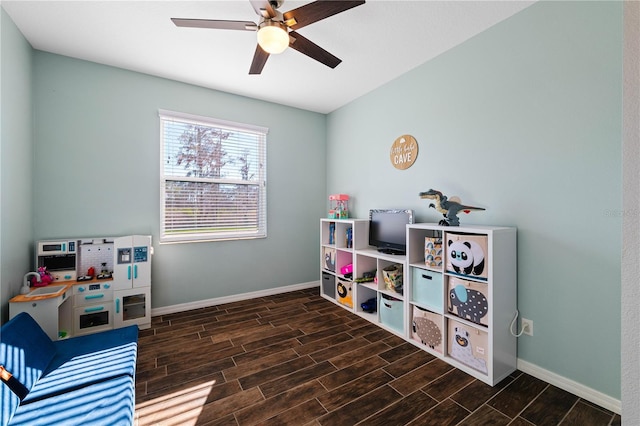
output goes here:
[{"label": "teal wall surrounding the window, behind the toy kitchen", "polygon": [[[34,236],[151,234],[154,308],[318,279],[326,116],[37,51]],[[158,244],[158,109],[268,127],[268,237]]]}]

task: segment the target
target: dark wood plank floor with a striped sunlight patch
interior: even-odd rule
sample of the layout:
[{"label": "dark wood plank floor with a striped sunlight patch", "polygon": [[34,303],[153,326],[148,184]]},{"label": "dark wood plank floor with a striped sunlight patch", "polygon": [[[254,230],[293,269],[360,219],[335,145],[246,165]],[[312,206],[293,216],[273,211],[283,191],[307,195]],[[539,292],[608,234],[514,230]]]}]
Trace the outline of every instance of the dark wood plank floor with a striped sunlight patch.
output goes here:
[{"label": "dark wood plank floor with a striped sunlight patch", "polygon": [[515,372],[490,387],[317,289],[154,317],[139,425],[581,425],[620,416]]}]

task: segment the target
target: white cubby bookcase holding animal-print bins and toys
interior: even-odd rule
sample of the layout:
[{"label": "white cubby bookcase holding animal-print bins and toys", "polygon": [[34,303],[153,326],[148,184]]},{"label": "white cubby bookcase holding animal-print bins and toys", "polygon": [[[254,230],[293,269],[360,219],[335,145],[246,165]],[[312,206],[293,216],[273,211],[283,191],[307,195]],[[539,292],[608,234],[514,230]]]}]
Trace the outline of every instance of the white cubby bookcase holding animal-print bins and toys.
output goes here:
[{"label": "white cubby bookcase holding animal-print bins and toys", "polygon": [[491,386],[516,369],[515,228],[411,224],[406,255],[370,247],[368,219],[321,219],[320,234],[322,297]]}]

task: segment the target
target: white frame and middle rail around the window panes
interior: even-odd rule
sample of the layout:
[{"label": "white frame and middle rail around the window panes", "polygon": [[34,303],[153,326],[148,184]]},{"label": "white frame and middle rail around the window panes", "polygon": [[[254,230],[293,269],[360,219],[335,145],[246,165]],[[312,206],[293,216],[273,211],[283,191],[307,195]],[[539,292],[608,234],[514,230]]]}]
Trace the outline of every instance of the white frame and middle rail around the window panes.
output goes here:
[{"label": "white frame and middle rail around the window panes", "polygon": [[[160,243],[194,243],[194,242],[214,242],[214,241],[234,241],[259,239],[267,237],[267,127],[238,123],[233,121],[221,120],[201,115],[188,114],[183,112],[158,110],[159,128],[160,128]],[[186,125],[206,126],[219,129],[225,132],[235,134],[251,134],[257,135],[257,143],[255,154],[258,158],[257,174],[254,180],[242,180],[233,178],[202,178],[202,177],[184,177],[174,176],[165,171],[165,153],[167,142],[165,141],[165,123],[178,122]],[[258,190],[258,214],[257,214],[257,230],[255,232],[222,232],[222,231],[199,231],[193,227],[191,231],[184,233],[167,232],[168,218],[166,216],[166,188],[167,182],[190,182],[190,183],[211,183],[222,185],[248,185],[256,187]],[[237,221],[235,226],[238,226]]]}]

